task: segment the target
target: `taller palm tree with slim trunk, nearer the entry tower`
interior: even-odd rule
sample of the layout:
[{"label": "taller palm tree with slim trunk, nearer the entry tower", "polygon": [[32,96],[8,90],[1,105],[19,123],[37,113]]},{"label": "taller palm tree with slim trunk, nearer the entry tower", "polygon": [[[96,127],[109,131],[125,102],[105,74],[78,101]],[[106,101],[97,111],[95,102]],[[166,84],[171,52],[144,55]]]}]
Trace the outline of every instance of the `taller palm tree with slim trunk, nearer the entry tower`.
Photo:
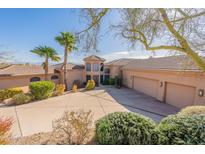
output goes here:
[{"label": "taller palm tree with slim trunk, nearer the entry tower", "polygon": [[67,78],[66,78],[66,64],[67,64],[67,59],[68,59],[68,54],[71,53],[73,50],[76,50],[77,48],[75,47],[76,44],[76,39],[72,33],[69,32],[61,32],[59,36],[55,37],[55,40],[64,47],[64,84],[65,84],[65,89],[67,90]]}]

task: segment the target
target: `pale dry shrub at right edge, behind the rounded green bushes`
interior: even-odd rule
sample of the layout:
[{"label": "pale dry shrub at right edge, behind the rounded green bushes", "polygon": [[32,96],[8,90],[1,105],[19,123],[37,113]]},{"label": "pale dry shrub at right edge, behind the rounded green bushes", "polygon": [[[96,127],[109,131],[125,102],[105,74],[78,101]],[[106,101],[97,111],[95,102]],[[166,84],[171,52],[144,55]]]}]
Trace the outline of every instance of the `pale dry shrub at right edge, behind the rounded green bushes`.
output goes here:
[{"label": "pale dry shrub at right edge, behind the rounded green bushes", "polygon": [[179,114],[192,115],[192,114],[205,114],[205,106],[188,106],[182,109]]}]

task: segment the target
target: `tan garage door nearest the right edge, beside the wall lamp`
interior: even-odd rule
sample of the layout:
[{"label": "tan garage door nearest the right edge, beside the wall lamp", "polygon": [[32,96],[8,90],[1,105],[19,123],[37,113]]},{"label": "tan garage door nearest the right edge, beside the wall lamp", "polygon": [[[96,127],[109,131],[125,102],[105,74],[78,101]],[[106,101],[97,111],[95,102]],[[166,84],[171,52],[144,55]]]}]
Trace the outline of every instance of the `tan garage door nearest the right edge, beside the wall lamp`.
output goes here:
[{"label": "tan garage door nearest the right edge, beside the wall lamp", "polygon": [[195,87],[166,83],[166,103],[183,108],[194,104]]}]

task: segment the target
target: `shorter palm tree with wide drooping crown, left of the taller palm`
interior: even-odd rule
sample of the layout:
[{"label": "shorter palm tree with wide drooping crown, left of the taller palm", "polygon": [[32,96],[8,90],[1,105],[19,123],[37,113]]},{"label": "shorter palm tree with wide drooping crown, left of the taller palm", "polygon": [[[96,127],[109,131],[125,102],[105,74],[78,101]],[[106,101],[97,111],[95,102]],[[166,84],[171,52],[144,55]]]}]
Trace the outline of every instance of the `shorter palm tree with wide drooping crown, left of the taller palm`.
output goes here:
[{"label": "shorter palm tree with wide drooping crown, left of the taller palm", "polygon": [[60,57],[55,49],[47,46],[39,46],[35,49],[31,50],[32,53],[39,55],[40,57],[45,57],[45,62],[43,62],[43,68],[45,70],[45,80],[48,80],[48,61],[51,59],[52,61],[59,61]]}]

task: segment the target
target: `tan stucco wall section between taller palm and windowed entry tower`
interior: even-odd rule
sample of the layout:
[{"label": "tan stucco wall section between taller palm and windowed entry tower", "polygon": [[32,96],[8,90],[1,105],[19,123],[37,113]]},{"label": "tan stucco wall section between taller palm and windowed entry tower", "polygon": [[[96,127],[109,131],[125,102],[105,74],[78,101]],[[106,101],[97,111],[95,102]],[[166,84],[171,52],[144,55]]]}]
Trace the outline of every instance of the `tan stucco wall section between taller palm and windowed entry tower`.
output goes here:
[{"label": "tan stucco wall section between taller palm and windowed entry tower", "polygon": [[73,82],[79,80],[83,82],[83,70],[69,70],[67,71],[67,87],[68,90],[72,89]]}]

